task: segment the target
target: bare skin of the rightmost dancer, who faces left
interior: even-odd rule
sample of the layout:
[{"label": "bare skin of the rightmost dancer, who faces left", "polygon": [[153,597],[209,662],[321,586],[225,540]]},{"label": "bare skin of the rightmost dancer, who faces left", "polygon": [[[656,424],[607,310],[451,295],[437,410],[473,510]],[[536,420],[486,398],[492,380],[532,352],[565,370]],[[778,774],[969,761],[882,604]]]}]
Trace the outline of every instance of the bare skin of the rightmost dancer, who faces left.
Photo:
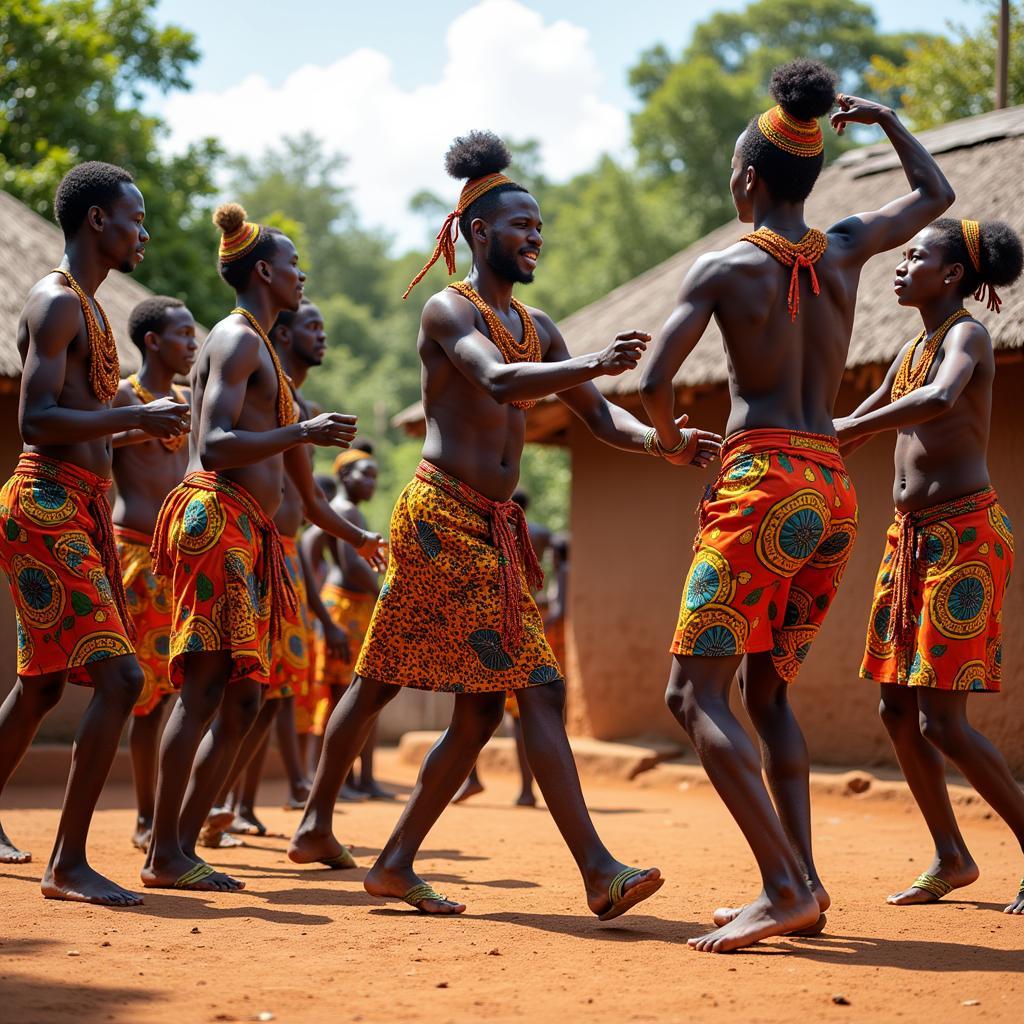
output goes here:
[{"label": "bare skin of the rightmost dancer, who faces left", "polygon": [[[950,260],[933,228],[912,239],[896,266],[894,291],[902,306],[921,312],[930,336],[965,302],[964,265]],[[938,505],[988,486],[986,454],[995,360],[988,332],[977,321],[957,323],[946,334],[925,383],[893,401],[891,391],[907,345],[885,381],[848,417],[836,421],[844,446],[896,430],[893,500],[901,512]],[[924,351],[919,346],[916,359]],[[900,767],[925,817],[935,856],[927,871],[961,889],[979,876],[961,835],[946,791],[951,761],[1010,826],[1024,850],[1024,795],[1002,755],[968,721],[968,693],[899,686],[880,687],[880,713]],[[935,902],[910,886],[888,899],[897,906]],[[1024,914],[1024,892],[1006,906]]]}]

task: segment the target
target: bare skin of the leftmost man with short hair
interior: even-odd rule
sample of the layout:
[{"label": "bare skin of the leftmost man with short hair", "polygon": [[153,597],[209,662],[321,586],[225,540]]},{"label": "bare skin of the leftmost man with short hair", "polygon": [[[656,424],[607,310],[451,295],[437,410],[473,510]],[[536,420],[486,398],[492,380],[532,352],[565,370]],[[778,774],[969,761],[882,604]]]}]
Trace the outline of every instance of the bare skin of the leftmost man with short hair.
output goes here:
[{"label": "bare skin of the leftmost man with short hair", "polygon": [[[74,236],[66,240],[61,265],[79,282],[97,316],[91,296],[108,273],[130,271],[142,259],[150,238],[144,218],[141,193],[125,184],[109,209],[91,207]],[[77,295],[59,274],[47,274],[30,292],[18,322],[17,344],[24,368],[18,428],[26,451],[109,477],[111,434],[141,428],[152,436],[171,437],[187,428],[187,411],[175,402],[159,399],[133,409],[112,409],[92,394],[85,316]],[[86,840],[121,730],[141,688],[142,673],[130,654],[91,665],[89,676],[92,697],[76,735],[65,805],[42,891],[50,899],[131,906],[140,903],[141,897],[90,867]],[[0,788],[47,712],[59,700],[67,680],[66,672],[18,677],[0,708]],[[0,829],[0,861],[29,859]]]}]

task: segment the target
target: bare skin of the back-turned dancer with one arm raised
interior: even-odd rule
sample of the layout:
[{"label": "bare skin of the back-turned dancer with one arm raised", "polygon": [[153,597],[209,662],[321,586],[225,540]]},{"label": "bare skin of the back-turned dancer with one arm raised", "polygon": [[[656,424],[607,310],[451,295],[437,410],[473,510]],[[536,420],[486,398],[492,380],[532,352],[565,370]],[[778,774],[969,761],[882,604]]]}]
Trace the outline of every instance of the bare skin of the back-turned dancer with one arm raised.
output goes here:
[{"label": "bare skin of the back-turned dancer with one arm raised", "polygon": [[[663,445],[679,440],[673,377],[714,316],[725,339],[731,409],[727,434],[783,428],[833,434],[833,407],[846,365],[857,285],[864,263],[900,245],[945,211],[953,191],[938,165],[886,106],[840,95],[831,123],[878,124],[903,165],[910,190],[881,210],[828,228],[828,248],[815,264],[821,293],[802,280],[800,314],[786,308],[791,270],[750,243],[709,253],[683,282],[678,304],[644,367],[640,393]],[[740,221],[799,241],[807,230],[804,204],[777,200],[754,167],[732,159],[729,186]],[[802,274],[806,278],[806,274]],[[729,709],[733,677],[758,729],[774,805],[761,759]],[[820,927],[828,906],[811,851],[807,746],[790,708],[787,686],[767,653],[745,659],[676,655],[667,700],[719,794],[751,845],[763,891],[740,909],[720,908],[720,927],[689,940],[725,952],[771,935]],[[811,892],[808,892],[808,886]],[[817,925],[816,925],[817,923]]]}]

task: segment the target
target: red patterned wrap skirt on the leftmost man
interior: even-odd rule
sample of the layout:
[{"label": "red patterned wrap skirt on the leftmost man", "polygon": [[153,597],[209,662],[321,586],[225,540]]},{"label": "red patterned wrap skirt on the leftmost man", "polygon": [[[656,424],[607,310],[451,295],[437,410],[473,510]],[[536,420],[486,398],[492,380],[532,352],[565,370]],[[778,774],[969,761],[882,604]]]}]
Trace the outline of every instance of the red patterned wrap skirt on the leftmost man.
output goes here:
[{"label": "red patterned wrap skirt on the leftmost man", "polygon": [[10,584],[17,674],[67,672],[134,653],[106,502],[111,481],[24,453],[0,488],[0,566]]}]

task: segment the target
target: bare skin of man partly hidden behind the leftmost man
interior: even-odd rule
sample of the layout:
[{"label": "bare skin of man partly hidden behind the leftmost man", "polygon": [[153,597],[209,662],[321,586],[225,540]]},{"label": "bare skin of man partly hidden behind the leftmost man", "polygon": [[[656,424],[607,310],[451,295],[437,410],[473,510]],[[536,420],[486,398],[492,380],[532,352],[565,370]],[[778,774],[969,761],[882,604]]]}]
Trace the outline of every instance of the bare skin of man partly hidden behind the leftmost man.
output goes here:
[{"label": "bare skin of man partly hidden behind the leftmost man", "polygon": [[[146,332],[142,344],[144,350],[142,369],[138,372],[139,383],[157,397],[175,397],[172,389],[174,378],[188,376],[199,351],[196,322],[191,313],[185,306],[172,307],[167,311],[162,329]],[[141,404],[142,399],[128,381],[122,381],[114,398],[114,408]],[[118,489],[114,522],[118,526],[152,536],[161,504],[184,476],[188,450],[182,446],[176,452],[169,451],[159,440],[137,429],[115,434],[113,443],[114,479]],[[143,851],[150,845],[153,828],[157,751],[167,703],[166,699],[162,700],[148,715],[133,716],[128,729],[138,807],[132,843]]]}]

